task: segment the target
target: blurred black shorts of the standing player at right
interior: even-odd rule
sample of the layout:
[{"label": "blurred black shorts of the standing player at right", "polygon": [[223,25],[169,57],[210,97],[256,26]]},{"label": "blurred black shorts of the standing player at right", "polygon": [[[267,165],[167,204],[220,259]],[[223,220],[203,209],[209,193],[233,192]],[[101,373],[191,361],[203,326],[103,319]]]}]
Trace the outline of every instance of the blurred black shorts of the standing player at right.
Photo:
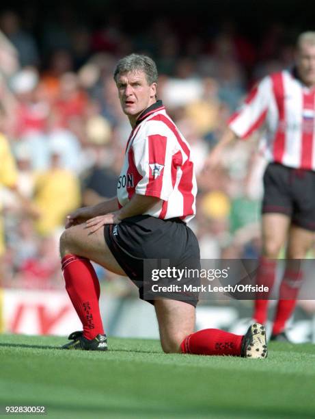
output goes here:
[{"label": "blurred black shorts of the standing player at right", "polygon": [[286,214],[303,229],[315,231],[315,172],[271,163],[264,173],[262,213]]}]

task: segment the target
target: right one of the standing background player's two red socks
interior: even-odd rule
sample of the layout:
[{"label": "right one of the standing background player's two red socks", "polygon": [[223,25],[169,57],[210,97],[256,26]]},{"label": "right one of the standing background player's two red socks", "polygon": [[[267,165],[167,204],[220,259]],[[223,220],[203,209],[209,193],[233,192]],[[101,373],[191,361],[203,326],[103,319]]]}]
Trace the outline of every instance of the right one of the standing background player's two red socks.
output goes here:
[{"label": "right one of the standing background player's two red socks", "polygon": [[295,309],[302,279],[303,272],[299,270],[299,267],[297,269],[287,268],[284,272],[284,279],[282,279],[279,290],[277,311],[273,322],[273,335],[284,331],[286,321]]}]

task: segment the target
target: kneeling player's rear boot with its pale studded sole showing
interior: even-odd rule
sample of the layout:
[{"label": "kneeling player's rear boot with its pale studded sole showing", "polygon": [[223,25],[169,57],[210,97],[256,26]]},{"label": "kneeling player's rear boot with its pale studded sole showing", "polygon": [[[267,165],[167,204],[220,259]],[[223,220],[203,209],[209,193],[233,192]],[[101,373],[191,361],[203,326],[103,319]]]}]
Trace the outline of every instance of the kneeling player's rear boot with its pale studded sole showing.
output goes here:
[{"label": "kneeling player's rear boot with its pale studded sole showing", "polygon": [[268,349],[266,344],[266,328],[260,323],[249,326],[244,335],[241,357],[244,358],[266,358]]}]

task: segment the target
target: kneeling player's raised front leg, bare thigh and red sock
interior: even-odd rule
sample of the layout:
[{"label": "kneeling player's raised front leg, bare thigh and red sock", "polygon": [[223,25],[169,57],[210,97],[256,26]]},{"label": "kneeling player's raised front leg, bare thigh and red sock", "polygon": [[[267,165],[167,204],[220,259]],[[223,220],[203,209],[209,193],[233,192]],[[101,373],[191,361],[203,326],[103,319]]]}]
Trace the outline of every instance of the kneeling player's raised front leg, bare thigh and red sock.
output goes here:
[{"label": "kneeling player's raised front leg, bare thigh and red sock", "polygon": [[90,259],[111,272],[126,274],[109,251],[103,229],[92,234],[84,224],[66,229],[60,239],[60,253],[66,290],[82,322],[83,337],[92,340],[104,329],[98,305],[100,285]]}]

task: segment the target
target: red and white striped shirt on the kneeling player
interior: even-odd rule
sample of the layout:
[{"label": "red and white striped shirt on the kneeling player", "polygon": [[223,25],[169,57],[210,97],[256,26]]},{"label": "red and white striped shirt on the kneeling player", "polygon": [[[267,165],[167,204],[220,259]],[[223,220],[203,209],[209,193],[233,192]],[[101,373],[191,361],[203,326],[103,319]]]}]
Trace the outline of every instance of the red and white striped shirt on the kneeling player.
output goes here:
[{"label": "red and white striped shirt on the kneeling player", "polygon": [[185,223],[195,216],[197,183],[189,144],[161,101],[140,116],[126,145],[117,189],[120,207],[135,193],[161,199],[144,214]]}]

